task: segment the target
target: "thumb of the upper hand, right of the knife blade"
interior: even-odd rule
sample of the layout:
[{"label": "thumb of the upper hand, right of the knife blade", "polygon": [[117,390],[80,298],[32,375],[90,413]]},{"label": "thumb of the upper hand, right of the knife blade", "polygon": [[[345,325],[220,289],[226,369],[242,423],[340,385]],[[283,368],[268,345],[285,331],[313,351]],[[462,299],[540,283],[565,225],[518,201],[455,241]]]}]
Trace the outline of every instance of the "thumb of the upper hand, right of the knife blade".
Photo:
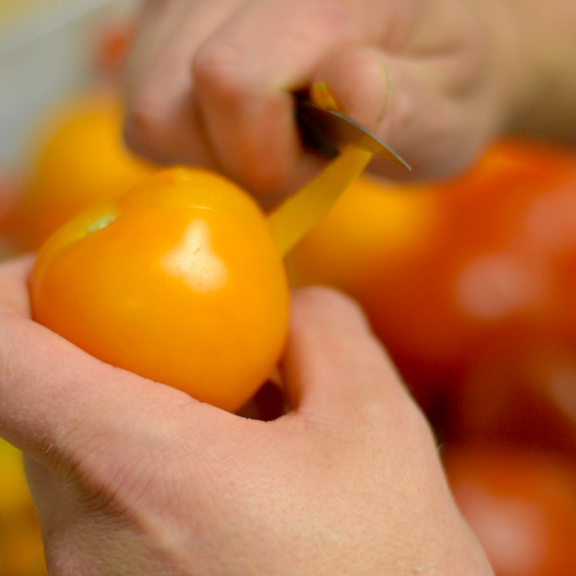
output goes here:
[{"label": "thumb of the upper hand, right of the knife blade", "polygon": [[495,118],[458,88],[462,62],[407,58],[350,47],[326,59],[314,82],[326,83],[341,110],[372,130],[412,167],[375,159],[371,168],[399,180],[434,179],[466,167],[494,135]]}]

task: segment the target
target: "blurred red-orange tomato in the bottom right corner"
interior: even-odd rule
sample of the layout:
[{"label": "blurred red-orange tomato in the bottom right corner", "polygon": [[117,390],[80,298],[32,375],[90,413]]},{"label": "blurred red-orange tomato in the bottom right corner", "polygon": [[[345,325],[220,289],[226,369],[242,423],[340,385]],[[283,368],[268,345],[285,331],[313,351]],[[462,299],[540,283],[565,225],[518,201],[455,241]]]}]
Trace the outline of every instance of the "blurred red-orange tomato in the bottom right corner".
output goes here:
[{"label": "blurred red-orange tomato in the bottom right corner", "polygon": [[576,574],[573,463],[492,445],[448,449],[445,465],[496,576]]}]

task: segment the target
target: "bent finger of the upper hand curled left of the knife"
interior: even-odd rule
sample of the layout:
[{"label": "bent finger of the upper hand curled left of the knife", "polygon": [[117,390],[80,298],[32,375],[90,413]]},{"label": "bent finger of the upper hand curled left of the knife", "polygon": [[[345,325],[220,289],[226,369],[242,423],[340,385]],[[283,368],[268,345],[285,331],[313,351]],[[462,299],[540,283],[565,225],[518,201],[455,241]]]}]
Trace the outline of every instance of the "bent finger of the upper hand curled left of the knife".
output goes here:
[{"label": "bent finger of the upper hand curled left of the knife", "polygon": [[194,86],[222,170],[260,197],[286,192],[320,163],[304,153],[292,90],[342,43],[360,37],[353,3],[260,0],[206,40]]}]

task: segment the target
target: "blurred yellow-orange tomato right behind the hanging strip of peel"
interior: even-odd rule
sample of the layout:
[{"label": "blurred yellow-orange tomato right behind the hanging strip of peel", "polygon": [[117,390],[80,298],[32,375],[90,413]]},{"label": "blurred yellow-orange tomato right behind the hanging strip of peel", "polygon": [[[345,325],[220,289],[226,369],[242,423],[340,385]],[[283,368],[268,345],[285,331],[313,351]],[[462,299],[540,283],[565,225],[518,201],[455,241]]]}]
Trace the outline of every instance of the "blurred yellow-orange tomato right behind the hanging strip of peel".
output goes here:
[{"label": "blurred yellow-orange tomato right behind the hanging strip of peel", "polygon": [[393,273],[423,253],[438,221],[428,188],[362,176],[289,255],[292,281],[331,284],[360,298],[375,273]]}]

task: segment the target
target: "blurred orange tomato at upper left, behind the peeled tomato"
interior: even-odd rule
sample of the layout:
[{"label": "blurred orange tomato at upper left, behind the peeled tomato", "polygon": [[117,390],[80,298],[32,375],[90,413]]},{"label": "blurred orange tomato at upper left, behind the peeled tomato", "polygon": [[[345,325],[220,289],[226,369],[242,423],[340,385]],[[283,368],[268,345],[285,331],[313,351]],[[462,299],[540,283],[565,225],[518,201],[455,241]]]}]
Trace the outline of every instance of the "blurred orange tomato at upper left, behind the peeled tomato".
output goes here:
[{"label": "blurred orange tomato at upper left, behind the peeled tomato", "polygon": [[26,249],[95,202],[118,198],[156,171],[122,142],[120,98],[93,91],[59,105],[41,130],[23,202]]}]

